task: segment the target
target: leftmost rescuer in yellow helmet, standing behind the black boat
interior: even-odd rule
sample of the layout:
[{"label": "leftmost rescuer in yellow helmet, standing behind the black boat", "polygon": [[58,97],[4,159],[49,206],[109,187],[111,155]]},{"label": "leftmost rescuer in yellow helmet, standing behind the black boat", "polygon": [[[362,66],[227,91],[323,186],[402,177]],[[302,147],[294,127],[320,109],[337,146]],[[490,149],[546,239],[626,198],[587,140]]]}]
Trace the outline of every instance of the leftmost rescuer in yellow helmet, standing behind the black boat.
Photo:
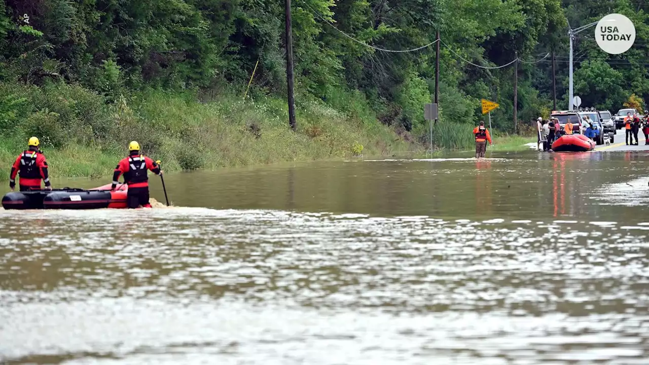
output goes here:
[{"label": "leftmost rescuer in yellow helmet, standing behind the black boat", "polygon": [[19,186],[21,192],[29,190],[41,190],[41,180],[45,182],[45,190],[52,190],[47,174],[47,160],[39,150],[40,141],[36,137],[29,138],[29,148],[24,151],[14,162],[9,173],[9,188],[16,188],[16,175],[20,177]]}]

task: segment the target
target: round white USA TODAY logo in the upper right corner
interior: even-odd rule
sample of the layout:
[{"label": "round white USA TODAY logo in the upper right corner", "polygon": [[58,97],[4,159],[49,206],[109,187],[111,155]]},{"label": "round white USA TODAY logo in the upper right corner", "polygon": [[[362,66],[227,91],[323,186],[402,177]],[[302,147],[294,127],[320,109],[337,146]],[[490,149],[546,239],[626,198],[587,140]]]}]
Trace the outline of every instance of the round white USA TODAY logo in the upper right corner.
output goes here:
[{"label": "round white USA TODAY logo in the upper right corner", "polygon": [[635,27],[631,19],[622,14],[608,14],[597,23],[595,40],[602,51],[619,55],[635,42]]}]

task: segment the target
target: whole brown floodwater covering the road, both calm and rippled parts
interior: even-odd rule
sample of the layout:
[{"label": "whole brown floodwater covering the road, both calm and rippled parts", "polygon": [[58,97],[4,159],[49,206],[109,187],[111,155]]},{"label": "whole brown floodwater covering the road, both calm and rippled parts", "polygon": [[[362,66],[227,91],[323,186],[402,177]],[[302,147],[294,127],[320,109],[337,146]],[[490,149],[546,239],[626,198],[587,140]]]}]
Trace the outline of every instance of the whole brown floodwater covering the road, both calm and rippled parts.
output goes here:
[{"label": "whole brown floodwater covering the road, both calm and rippled parts", "polygon": [[646,364],[647,157],[493,157],[177,173],[182,208],[0,211],[0,362]]}]

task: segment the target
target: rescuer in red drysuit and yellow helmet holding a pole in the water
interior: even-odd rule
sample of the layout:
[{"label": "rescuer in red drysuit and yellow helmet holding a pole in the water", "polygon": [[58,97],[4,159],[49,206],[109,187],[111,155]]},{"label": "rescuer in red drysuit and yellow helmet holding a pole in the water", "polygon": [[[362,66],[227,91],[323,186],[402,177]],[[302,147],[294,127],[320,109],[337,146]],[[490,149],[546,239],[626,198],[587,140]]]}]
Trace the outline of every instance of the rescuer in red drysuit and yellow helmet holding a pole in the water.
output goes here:
[{"label": "rescuer in red drysuit and yellow helmet holding a pole in the water", "polygon": [[129,208],[138,208],[140,205],[151,208],[149,204],[149,176],[147,170],[156,175],[162,175],[160,166],[151,158],[140,155],[140,144],[132,141],[129,144],[129,157],[119,161],[113,173],[111,190],[115,190],[119,175],[124,174],[124,183],[129,185],[127,192],[127,205]]}]

